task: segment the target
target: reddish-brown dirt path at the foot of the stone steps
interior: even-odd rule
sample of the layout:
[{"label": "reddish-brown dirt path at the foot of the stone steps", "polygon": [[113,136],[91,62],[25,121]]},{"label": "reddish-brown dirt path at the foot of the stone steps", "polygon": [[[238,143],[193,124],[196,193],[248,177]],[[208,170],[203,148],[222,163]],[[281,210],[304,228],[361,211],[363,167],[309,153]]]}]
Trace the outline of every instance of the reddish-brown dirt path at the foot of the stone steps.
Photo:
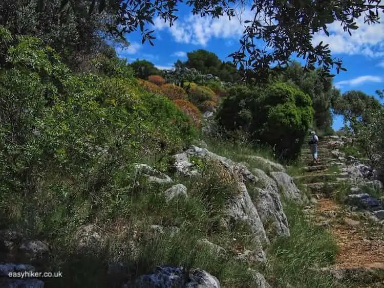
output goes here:
[{"label": "reddish-brown dirt path at the foot of the stone steps", "polygon": [[[331,159],[333,148],[329,147],[328,143],[332,142],[332,139],[321,139],[320,142],[319,145],[322,145],[322,147],[328,147],[323,148],[323,153],[320,157]],[[310,158],[308,152],[306,152],[304,157],[306,159]],[[328,164],[331,164],[331,162],[332,160]],[[329,166],[324,167],[324,169],[322,167],[319,168],[321,168],[320,171],[317,170],[315,173],[307,172],[306,175],[321,176],[322,173],[329,173]],[[319,182],[322,182],[320,184],[327,183],[327,178],[324,175],[323,177],[320,176],[304,176],[305,184],[313,185],[313,183],[316,183],[317,185]],[[303,176],[300,180],[303,181]],[[312,193],[314,194],[314,191]],[[376,274],[372,276],[372,273],[369,272],[363,276],[358,276],[358,280],[362,280],[362,282],[367,284],[374,282],[375,284],[372,287],[384,287],[384,227],[380,223],[372,221],[364,212],[347,210],[346,207],[338,204],[325,191],[322,193],[322,191],[317,189],[315,194],[319,195],[319,198],[317,198],[317,204],[312,209],[309,209],[311,221],[329,229],[339,248],[336,263],[332,265],[331,269],[343,271],[379,270],[382,278]],[[371,276],[372,279],[369,279]],[[354,286],[356,287],[356,285]],[[361,284],[358,287],[371,286]]]}]

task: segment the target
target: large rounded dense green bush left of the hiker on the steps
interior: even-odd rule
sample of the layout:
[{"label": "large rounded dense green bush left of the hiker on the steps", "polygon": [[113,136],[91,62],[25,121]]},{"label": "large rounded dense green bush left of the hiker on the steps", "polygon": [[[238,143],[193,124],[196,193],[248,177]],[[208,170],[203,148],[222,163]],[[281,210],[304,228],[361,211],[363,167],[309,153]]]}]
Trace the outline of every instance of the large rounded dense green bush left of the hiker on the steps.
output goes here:
[{"label": "large rounded dense green bush left of the hiker on the steps", "polygon": [[251,140],[268,143],[278,157],[295,159],[313,119],[308,95],[286,83],[274,83],[265,91],[245,86],[229,90],[218,120],[227,130],[250,132]]}]

